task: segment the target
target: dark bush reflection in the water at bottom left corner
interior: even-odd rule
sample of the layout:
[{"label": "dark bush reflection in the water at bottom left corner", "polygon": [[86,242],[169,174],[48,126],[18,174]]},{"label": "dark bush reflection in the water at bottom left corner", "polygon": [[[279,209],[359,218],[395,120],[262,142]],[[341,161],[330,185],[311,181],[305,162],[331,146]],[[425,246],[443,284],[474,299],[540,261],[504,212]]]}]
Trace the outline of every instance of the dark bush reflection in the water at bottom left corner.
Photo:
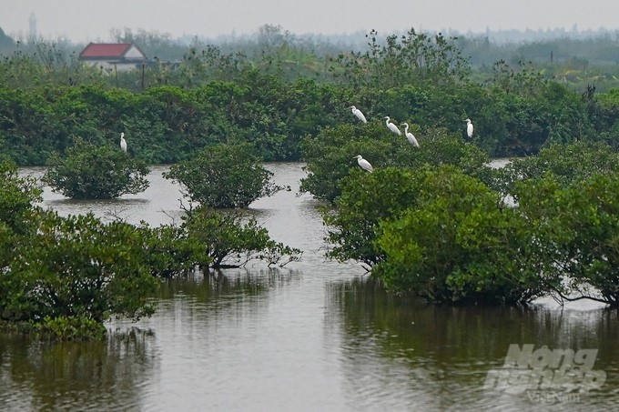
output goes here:
[{"label": "dark bush reflection in the water at bottom left corner", "polygon": [[0,391],[0,405],[3,410],[138,408],[139,388],[157,363],[154,339],[137,328],[109,331],[107,340],[86,343],[0,337],[0,381],[8,389]]}]

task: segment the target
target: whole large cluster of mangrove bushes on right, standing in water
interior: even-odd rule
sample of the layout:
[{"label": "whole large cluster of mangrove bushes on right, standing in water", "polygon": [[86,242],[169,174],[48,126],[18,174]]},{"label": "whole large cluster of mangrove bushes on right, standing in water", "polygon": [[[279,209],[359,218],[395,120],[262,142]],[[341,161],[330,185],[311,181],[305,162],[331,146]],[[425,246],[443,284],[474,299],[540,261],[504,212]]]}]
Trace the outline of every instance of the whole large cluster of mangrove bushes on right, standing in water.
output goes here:
[{"label": "whole large cluster of mangrove bushes on right, standing in water", "polygon": [[457,162],[353,169],[325,210],[330,256],[432,302],[617,306],[617,162],[609,146],[577,143],[481,174]]}]

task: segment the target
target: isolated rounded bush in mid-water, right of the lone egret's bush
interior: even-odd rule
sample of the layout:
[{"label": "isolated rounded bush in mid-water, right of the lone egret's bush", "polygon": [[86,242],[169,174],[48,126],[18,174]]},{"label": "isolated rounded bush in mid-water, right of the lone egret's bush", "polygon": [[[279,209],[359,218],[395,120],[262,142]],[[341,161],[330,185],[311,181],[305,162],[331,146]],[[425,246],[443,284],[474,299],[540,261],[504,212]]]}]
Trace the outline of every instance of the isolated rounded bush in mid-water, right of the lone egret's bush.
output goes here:
[{"label": "isolated rounded bush in mid-water, right of the lone egret's bush", "polygon": [[250,145],[217,145],[171,166],[164,177],[178,181],[192,201],[226,208],[276,193],[280,187],[270,181],[272,175]]}]

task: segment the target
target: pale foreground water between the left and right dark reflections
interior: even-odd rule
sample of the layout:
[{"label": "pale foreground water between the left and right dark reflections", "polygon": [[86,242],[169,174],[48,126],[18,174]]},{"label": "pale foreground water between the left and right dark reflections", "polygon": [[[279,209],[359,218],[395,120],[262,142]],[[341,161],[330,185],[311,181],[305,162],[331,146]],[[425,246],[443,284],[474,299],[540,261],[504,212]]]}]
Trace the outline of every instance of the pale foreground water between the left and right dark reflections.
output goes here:
[{"label": "pale foreground water between the left and right dark reflections", "polygon": [[147,388],[149,410],[340,410],[321,345],[323,308],[299,272],[172,279],[157,302],[139,322],[165,348],[157,386],[167,390]]}]

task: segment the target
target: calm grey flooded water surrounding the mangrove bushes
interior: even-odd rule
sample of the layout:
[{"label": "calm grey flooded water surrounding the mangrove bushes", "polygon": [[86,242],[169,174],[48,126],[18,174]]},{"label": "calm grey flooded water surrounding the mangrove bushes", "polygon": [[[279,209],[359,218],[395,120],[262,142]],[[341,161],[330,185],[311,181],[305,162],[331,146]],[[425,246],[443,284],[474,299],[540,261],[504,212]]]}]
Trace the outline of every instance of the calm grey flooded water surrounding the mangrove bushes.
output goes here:
[{"label": "calm grey flooded water surrounding the mangrove bushes", "polygon": [[[593,411],[619,405],[616,310],[586,302],[562,308],[552,300],[526,309],[447,307],[390,296],[360,265],[325,261],[317,202],[296,193],[302,165],[269,168],[291,190],[250,209],[275,240],[303,250],[302,262],[165,281],[154,296],[157,313],[107,324],[105,342],[0,337],[0,410]],[[161,177],[165,169],[154,166],[151,186],[136,196],[77,202],[46,190],[44,205],[65,215],[90,210],[133,223],[169,223],[181,216],[181,194]],[[533,360],[508,357],[520,368],[503,368],[508,352],[515,346],[512,355],[526,353],[527,344]],[[558,350],[565,356],[556,365],[548,354]],[[554,380],[530,384],[533,367],[544,361]],[[563,377],[562,365],[582,373]]]}]

